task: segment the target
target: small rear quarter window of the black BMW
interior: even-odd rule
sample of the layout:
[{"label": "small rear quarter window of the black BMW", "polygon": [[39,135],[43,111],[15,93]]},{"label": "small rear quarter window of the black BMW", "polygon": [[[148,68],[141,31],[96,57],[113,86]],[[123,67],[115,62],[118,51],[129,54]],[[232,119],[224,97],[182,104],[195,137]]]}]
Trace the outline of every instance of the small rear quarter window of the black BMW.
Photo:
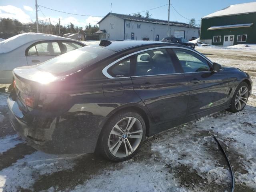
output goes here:
[{"label": "small rear quarter window of the black BMW", "polygon": [[130,76],[130,58],[126,58],[114,64],[108,69],[112,77],[129,77]]}]

